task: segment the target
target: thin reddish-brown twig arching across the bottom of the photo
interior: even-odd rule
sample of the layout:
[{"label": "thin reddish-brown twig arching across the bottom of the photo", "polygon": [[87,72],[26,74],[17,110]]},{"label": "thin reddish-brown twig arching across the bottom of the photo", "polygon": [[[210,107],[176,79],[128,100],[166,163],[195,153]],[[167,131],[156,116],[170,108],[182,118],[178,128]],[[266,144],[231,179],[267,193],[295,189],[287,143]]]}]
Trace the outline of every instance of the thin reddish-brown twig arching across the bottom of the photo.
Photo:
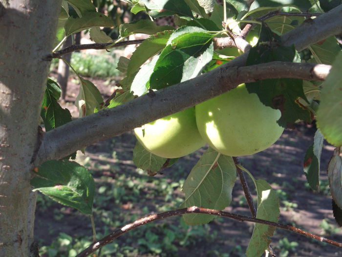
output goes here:
[{"label": "thin reddish-brown twig arching across the bottom of the photo", "polygon": [[288,231],[294,232],[296,234],[305,235],[305,236],[308,236],[308,237],[313,238],[315,240],[325,242],[325,243],[328,243],[328,244],[331,244],[331,245],[334,245],[337,247],[342,247],[342,243],[327,239],[325,237],[322,237],[322,236],[319,236],[316,234],[312,234],[312,233],[300,230],[300,229],[293,227],[293,226],[283,225],[283,224],[279,224],[279,223],[268,221],[268,220],[257,219],[257,218],[239,215],[239,214],[235,214],[235,213],[230,213],[230,212],[222,211],[222,210],[212,210],[212,209],[198,208],[196,206],[192,206],[189,208],[183,208],[183,209],[178,209],[178,210],[170,210],[170,211],[165,211],[165,212],[153,214],[153,215],[141,218],[139,220],[136,220],[132,223],[129,223],[126,226],[123,226],[120,229],[117,229],[113,233],[108,234],[107,236],[100,239],[99,241],[90,244],[84,251],[79,253],[76,257],[86,257],[86,256],[94,253],[99,248],[101,248],[101,247],[105,246],[106,244],[112,242],[114,239],[116,239],[120,235],[125,234],[132,229],[140,227],[141,225],[144,225],[144,224],[156,221],[156,220],[164,219],[167,217],[183,215],[186,213],[212,214],[212,215],[216,215],[216,216],[235,219],[235,220],[241,221],[241,222],[249,221],[249,222],[254,222],[254,223],[259,223],[259,224],[265,224],[268,226],[288,230]]}]

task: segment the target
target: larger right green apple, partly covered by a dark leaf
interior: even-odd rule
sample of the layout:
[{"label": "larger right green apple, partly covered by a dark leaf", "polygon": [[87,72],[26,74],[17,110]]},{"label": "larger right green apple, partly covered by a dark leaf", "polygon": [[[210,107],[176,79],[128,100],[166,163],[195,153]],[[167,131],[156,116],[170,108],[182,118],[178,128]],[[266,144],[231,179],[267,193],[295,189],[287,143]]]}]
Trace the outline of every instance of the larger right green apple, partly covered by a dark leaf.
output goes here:
[{"label": "larger right green apple, partly covered by a dark leaf", "polygon": [[196,105],[199,133],[216,151],[244,156],[270,147],[284,128],[278,125],[279,110],[262,104],[244,84]]}]

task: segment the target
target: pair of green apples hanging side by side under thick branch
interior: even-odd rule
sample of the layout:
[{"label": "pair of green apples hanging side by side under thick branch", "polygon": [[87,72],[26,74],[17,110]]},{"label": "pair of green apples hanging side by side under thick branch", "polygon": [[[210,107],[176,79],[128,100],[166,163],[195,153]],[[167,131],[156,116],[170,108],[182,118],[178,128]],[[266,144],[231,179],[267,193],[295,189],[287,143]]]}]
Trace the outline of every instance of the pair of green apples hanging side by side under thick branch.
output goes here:
[{"label": "pair of green apples hanging side by side under thick branch", "polygon": [[151,153],[179,158],[205,143],[229,156],[251,155],[270,147],[283,132],[279,110],[262,104],[244,84],[195,107],[134,129]]}]

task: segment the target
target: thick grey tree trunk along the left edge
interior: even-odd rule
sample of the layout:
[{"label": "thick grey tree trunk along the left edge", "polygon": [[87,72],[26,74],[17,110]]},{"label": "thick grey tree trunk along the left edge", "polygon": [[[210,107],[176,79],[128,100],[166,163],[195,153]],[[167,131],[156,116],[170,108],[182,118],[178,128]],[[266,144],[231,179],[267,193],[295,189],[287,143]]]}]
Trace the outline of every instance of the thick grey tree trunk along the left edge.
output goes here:
[{"label": "thick grey tree trunk along the left edge", "polygon": [[11,0],[0,13],[1,257],[34,256],[31,158],[50,64],[43,57],[52,50],[60,6],[61,0]]}]

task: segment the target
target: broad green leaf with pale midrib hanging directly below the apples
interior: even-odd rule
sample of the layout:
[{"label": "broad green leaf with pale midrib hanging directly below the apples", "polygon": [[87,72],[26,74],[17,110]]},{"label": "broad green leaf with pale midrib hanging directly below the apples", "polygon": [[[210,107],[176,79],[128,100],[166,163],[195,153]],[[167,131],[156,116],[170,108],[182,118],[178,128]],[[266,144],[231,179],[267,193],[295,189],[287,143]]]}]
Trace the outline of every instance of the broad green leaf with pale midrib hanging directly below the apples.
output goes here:
[{"label": "broad green leaf with pale midrib hanging directly below the apples", "polygon": [[[232,201],[232,190],[236,180],[233,158],[209,148],[192,168],[183,184],[185,200],[181,208],[197,206],[223,210]],[[214,219],[209,214],[185,214],[189,225],[204,224]]]}]

